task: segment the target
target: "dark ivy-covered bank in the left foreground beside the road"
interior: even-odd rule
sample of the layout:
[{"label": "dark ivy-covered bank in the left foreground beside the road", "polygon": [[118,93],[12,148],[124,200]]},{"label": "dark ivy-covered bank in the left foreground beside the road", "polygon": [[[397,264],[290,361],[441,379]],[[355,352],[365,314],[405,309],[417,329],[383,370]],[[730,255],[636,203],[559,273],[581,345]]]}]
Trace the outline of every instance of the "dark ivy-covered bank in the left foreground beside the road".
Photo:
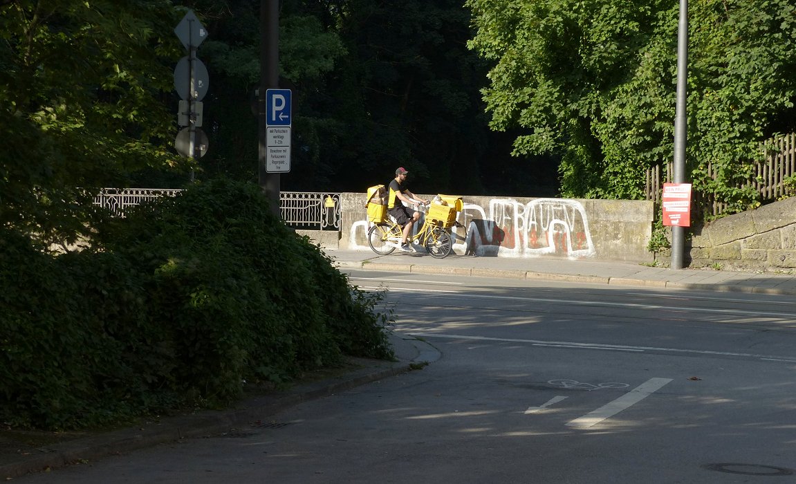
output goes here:
[{"label": "dark ivy-covered bank in the left foreground beside the road", "polygon": [[51,256],[0,237],[0,421],[74,428],[217,408],[344,355],[391,358],[380,295],[271,215],[256,185],[213,181],[100,225]]}]

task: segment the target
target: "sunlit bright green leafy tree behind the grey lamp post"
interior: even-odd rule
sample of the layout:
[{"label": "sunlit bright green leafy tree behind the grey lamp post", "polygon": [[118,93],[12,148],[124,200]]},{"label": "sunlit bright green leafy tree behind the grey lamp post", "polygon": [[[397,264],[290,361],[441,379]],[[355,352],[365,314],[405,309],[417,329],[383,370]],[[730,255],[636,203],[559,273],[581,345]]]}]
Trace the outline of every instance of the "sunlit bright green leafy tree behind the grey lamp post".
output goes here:
[{"label": "sunlit bright green leafy tree behind the grey lamp post", "polygon": [[[468,0],[470,47],[494,63],[490,126],[519,127],[513,154],[559,153],[568,197],[641,198],[648,166],[673,156],[677,2]],[[732,209],[759,142],[793,115],[789,0],[689,6],[689,148],[697,189]],[[712,181],[707,163],[718,174]]]}]

